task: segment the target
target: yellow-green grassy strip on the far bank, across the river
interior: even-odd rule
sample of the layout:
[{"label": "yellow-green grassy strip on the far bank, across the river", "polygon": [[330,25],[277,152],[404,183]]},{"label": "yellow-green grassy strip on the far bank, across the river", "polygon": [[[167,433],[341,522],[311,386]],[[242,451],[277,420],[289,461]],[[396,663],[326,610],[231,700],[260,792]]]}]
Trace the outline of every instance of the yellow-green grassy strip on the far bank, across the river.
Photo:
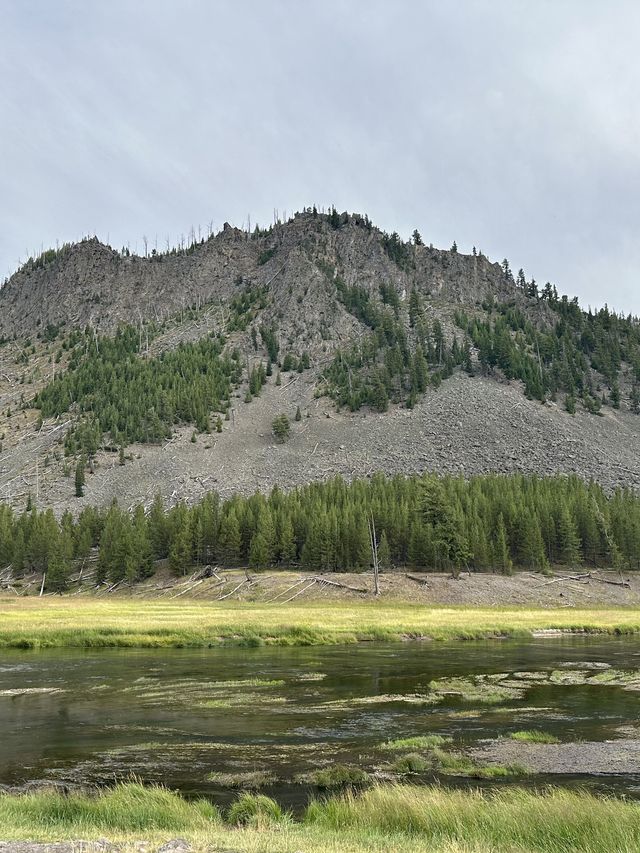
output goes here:
[{"label": "yellow-green grassy strip on the far bank, across the river", "polygon": [[0,648],[331,645],[525,637],[544,629],[637,633],[640,609],[0,598]]}]

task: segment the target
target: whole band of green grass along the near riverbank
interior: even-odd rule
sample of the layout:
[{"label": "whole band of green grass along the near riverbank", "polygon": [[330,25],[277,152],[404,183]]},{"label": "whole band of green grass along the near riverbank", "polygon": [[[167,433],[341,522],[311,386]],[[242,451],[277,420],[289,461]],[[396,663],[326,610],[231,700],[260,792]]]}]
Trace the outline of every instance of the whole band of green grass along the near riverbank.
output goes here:
[{"label": "whole band of green grass along the near riverbank", "polygon": [[254,853],[637,853],[640,804],[557,789],[496,794],[386,785],[313,802],[298,819],[244,795],[225,815],[161,788],[120,785],[99,796],[40,792],[0,798],[3,841],[108,837]]}]

